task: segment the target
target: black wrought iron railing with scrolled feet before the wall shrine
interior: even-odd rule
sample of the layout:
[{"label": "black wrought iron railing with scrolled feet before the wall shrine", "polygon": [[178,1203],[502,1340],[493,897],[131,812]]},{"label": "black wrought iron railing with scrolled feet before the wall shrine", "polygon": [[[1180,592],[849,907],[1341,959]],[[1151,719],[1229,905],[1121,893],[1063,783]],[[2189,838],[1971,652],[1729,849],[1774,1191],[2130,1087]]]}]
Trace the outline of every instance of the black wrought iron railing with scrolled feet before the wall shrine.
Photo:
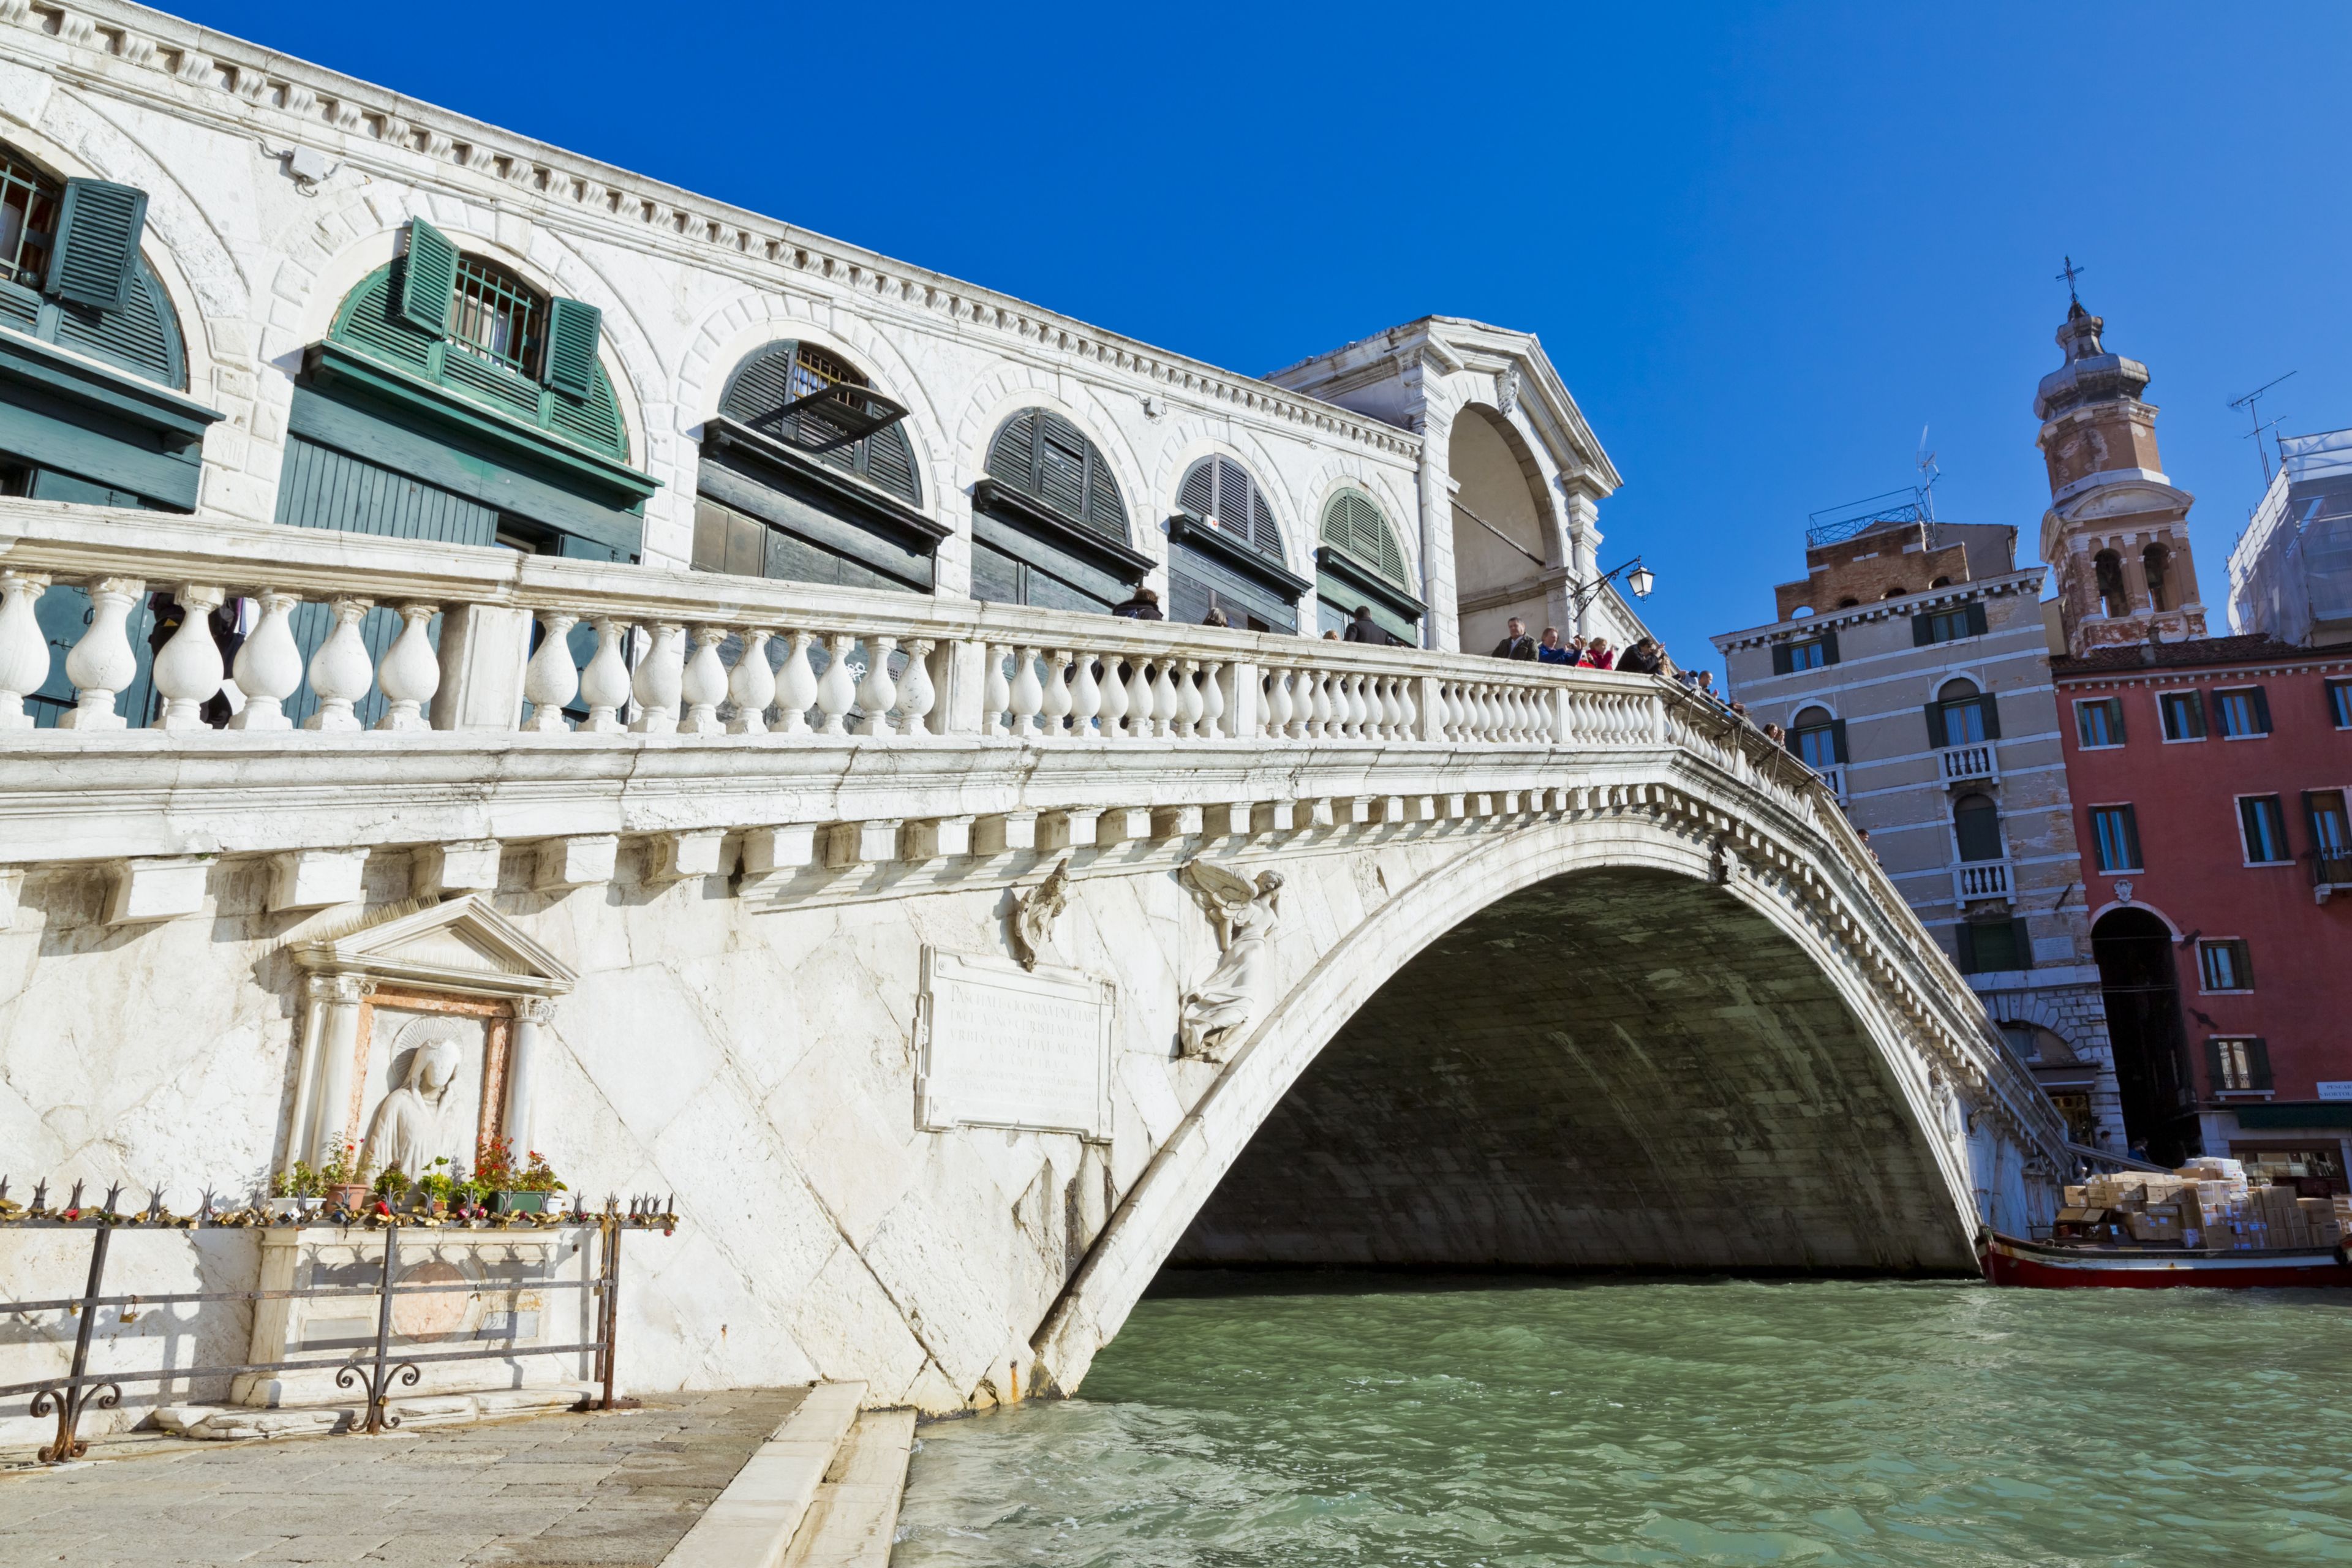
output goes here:
[{"label": "black wrought iron railing with scrolled feet before the wall shrine", "polygon": [[[292,1371],[332,1371],[334,1385],[339,1389],[365,1389],[365,1415],[360,1415],[348,1429],[350,1432],[383,1432],[400,1425],[400,1415],[393,1413],[390,1399],[395,1387],[416,1387],[423,1378],[421,1363],[428,1361],[510,1361],[515,1356],[567,1356],[567,1354],[593,1354],[595,1373],[593,1382],[600,1385],[602,1394],[581,1401],[579,1408],[609,1410],[616,1403],[614,1396],[614,1373],[616,1373],[616,1345],[621,1324],[621,1234],[628,1229],[661,1229],[668,1234],[677,1227],[677,1215],[670,1208],[670,1199],[637,1197],[628,1206],[612,1197],[604,1199],[602,1211],[588,1211],[583,1201],[574,1199],[569,1213],[555,1215],[492,1215],[487,1220],[423,1220],[419,1215],[341,1215],[343,1222],[320,1220],[313,1215],[287,1215],[273,1218],[261,1211],[235,1211],[219,1213],[212,1204],[212,1194],[205,1194],[202,1206],[193,1215],[172,1215],[162,1206],[162,1194],[153,1194],[143,1211],[118,1213],[115,1201],[122,1190],[115,1187],[106,1194],[103,1204],[82,1208],[82,1182],[73,1185],[73,1194],[49,1208],[47,1182],[33,1190],[33,1204],[21,1213],[12,1213],[14,1206],[7,1204],[7,1182],[0,1180],[0,1229],[87,1229],[89,1232],[89,1274],[82,1281],[80,1295],[61,1295],[52,1300],[12,1300],[0,1302],[0,1314],[9,1319],[21,1319],[28,1312],[66,1312],[80,1319],[73,1333],[73,1361],[64,1378],[35,1378],[31,1382],[0,1385],[0,1399],[16,1399],[31,1394],[31,1415],[54,1418],[56,1436],[40,1448],[40,1460],[45,1465],[64,1465],[66,1460],[78,1460],[89,1450],[89,1441],[80,1434],[82,1415],[92,1408],[113,1410],[122,1403],[125,1382],[183,1382],[195,1378],[240,1378],[245,1373],[292,1373]],[[249,1227],[249,1225],[278,1225],[289,1229],[355,1229],[360,1234],[383,1237],[383,1260],[381,1274],[374,1286],[308,1286],[289,1291],[172,1291],[172,1293],[139,1293],[139,1295],[106,1295],[106,1258],[118,1229],[205,1229],[205,1227]],[[426,1229],[430,1225],[430,1229]],[[595,1267],[586,1272],[583,1279],[539,1279],[532,1281],[532,1291],[588,1291],[595,1298],[595,1333],[586,1340],[569,1345],[487,1345],[482,1349],[435,1349],[414,1352],[393,1347],[393,1300],[409,1295],[447,1295],[447,1293],[477,1293],[480,1281],[459,1279],[452,1284],[397,1284],[400,1272],[400,1237],[402,1232],[416,1234],[445,1234],[449,1227],[480,1227],[480,1229],[510,1229],[517,1234],[562,1234],[572,1232],[579,1237],[597,1237]],[[99,1309],[113,1307],[118,1312],[148,1312],[153,1307],[195,1307],[209,1302],[270,1302],[270,1300],[374,1300],[376,1302],[376,1335],[372,1349],[353,1352],[350,1356],[334,1359],[301,1359],[301,1361],[235,1361],[221,1366],[165,1366],[146,1371],[89,1371],[92,1338],[96,1328]],[[129,1321],[129,1319],[125,1319]]]}]

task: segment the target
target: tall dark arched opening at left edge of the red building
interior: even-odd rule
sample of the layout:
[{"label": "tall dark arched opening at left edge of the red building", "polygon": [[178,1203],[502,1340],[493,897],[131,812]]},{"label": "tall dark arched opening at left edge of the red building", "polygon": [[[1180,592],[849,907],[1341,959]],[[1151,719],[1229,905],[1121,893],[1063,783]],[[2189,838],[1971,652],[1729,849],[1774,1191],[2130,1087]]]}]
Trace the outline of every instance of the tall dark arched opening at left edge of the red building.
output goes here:
[{"label": "tall dark arched opening at left edge of the red building", "polygon": [[2150,910],[2107,910],[2091,926],[2091,957],[2114,1041],[2124,1135],[2150,1159],[2180,1164],[2199,1152],[2197,1081],[2180,1027],[2171,926]]}]

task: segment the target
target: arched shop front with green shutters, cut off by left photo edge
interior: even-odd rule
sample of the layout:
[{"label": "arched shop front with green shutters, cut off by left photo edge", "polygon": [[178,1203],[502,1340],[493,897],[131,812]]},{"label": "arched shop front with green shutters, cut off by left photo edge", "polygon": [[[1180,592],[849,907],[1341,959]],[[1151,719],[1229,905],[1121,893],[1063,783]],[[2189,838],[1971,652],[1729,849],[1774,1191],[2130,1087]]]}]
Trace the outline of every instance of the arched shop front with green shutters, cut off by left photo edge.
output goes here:
[{"label": "arched shop front with green shutters, cut off by left photo edge", "polygon": [[[82,505],[195,510],[205,428],[186,397],[188,355],[172,301],[141,254],[146,193],[59,179],[0,143],[0,494]],[[155,701],[148,635],[167,597],[129,625],[139,656],[118,712],[146,724]],[[73,708],[66,651],[89,599],[56,583],[35,604],[49,677],[26,698],[54,726]]]}]

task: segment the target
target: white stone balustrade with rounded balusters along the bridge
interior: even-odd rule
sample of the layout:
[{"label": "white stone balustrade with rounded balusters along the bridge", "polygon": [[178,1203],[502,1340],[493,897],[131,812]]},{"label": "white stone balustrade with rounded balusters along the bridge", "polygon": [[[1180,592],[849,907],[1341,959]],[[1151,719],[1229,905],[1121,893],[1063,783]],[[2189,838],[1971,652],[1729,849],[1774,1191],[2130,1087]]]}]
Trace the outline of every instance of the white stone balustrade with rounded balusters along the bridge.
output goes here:
[{"label": "white stone balustrade with rounded balusters along the bridge", "polygon": [[[42,616],[80,592],[80,616]],[[136,611],[183,611],[127,712]],[[245,599],[233,661],[207,614]],[[47,621],[47,630],[45,623]],[[75,625],[78,621],[78,625]],[[990,736],[1042,745],[1247,741],[1696,745],[1771,788],[1811,773],[1670,682],[1423,649],[1122,621],[428,541],[113,508],[0,503],[0,731],[64,644],[82,736],[205,733],[233,679],[245,733]],[[1736,762],[1738,759],[1738,762]]]}]

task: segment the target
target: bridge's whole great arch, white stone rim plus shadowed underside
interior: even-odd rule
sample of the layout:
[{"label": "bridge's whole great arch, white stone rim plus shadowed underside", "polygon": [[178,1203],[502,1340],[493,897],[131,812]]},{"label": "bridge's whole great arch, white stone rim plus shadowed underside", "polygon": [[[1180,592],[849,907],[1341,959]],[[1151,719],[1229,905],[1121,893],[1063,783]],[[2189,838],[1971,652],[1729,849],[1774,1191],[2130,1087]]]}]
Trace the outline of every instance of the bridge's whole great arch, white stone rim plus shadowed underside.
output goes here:
[{"label": "bridge's whole great arch, white stone rim plus shadowed underside", "polygon": [[1957,1112],[1863,973],[1703,839],[1538,823],[1265,1016],[1033,1340],[1075,1392],[1174,1262],[1973,1274]]}]

